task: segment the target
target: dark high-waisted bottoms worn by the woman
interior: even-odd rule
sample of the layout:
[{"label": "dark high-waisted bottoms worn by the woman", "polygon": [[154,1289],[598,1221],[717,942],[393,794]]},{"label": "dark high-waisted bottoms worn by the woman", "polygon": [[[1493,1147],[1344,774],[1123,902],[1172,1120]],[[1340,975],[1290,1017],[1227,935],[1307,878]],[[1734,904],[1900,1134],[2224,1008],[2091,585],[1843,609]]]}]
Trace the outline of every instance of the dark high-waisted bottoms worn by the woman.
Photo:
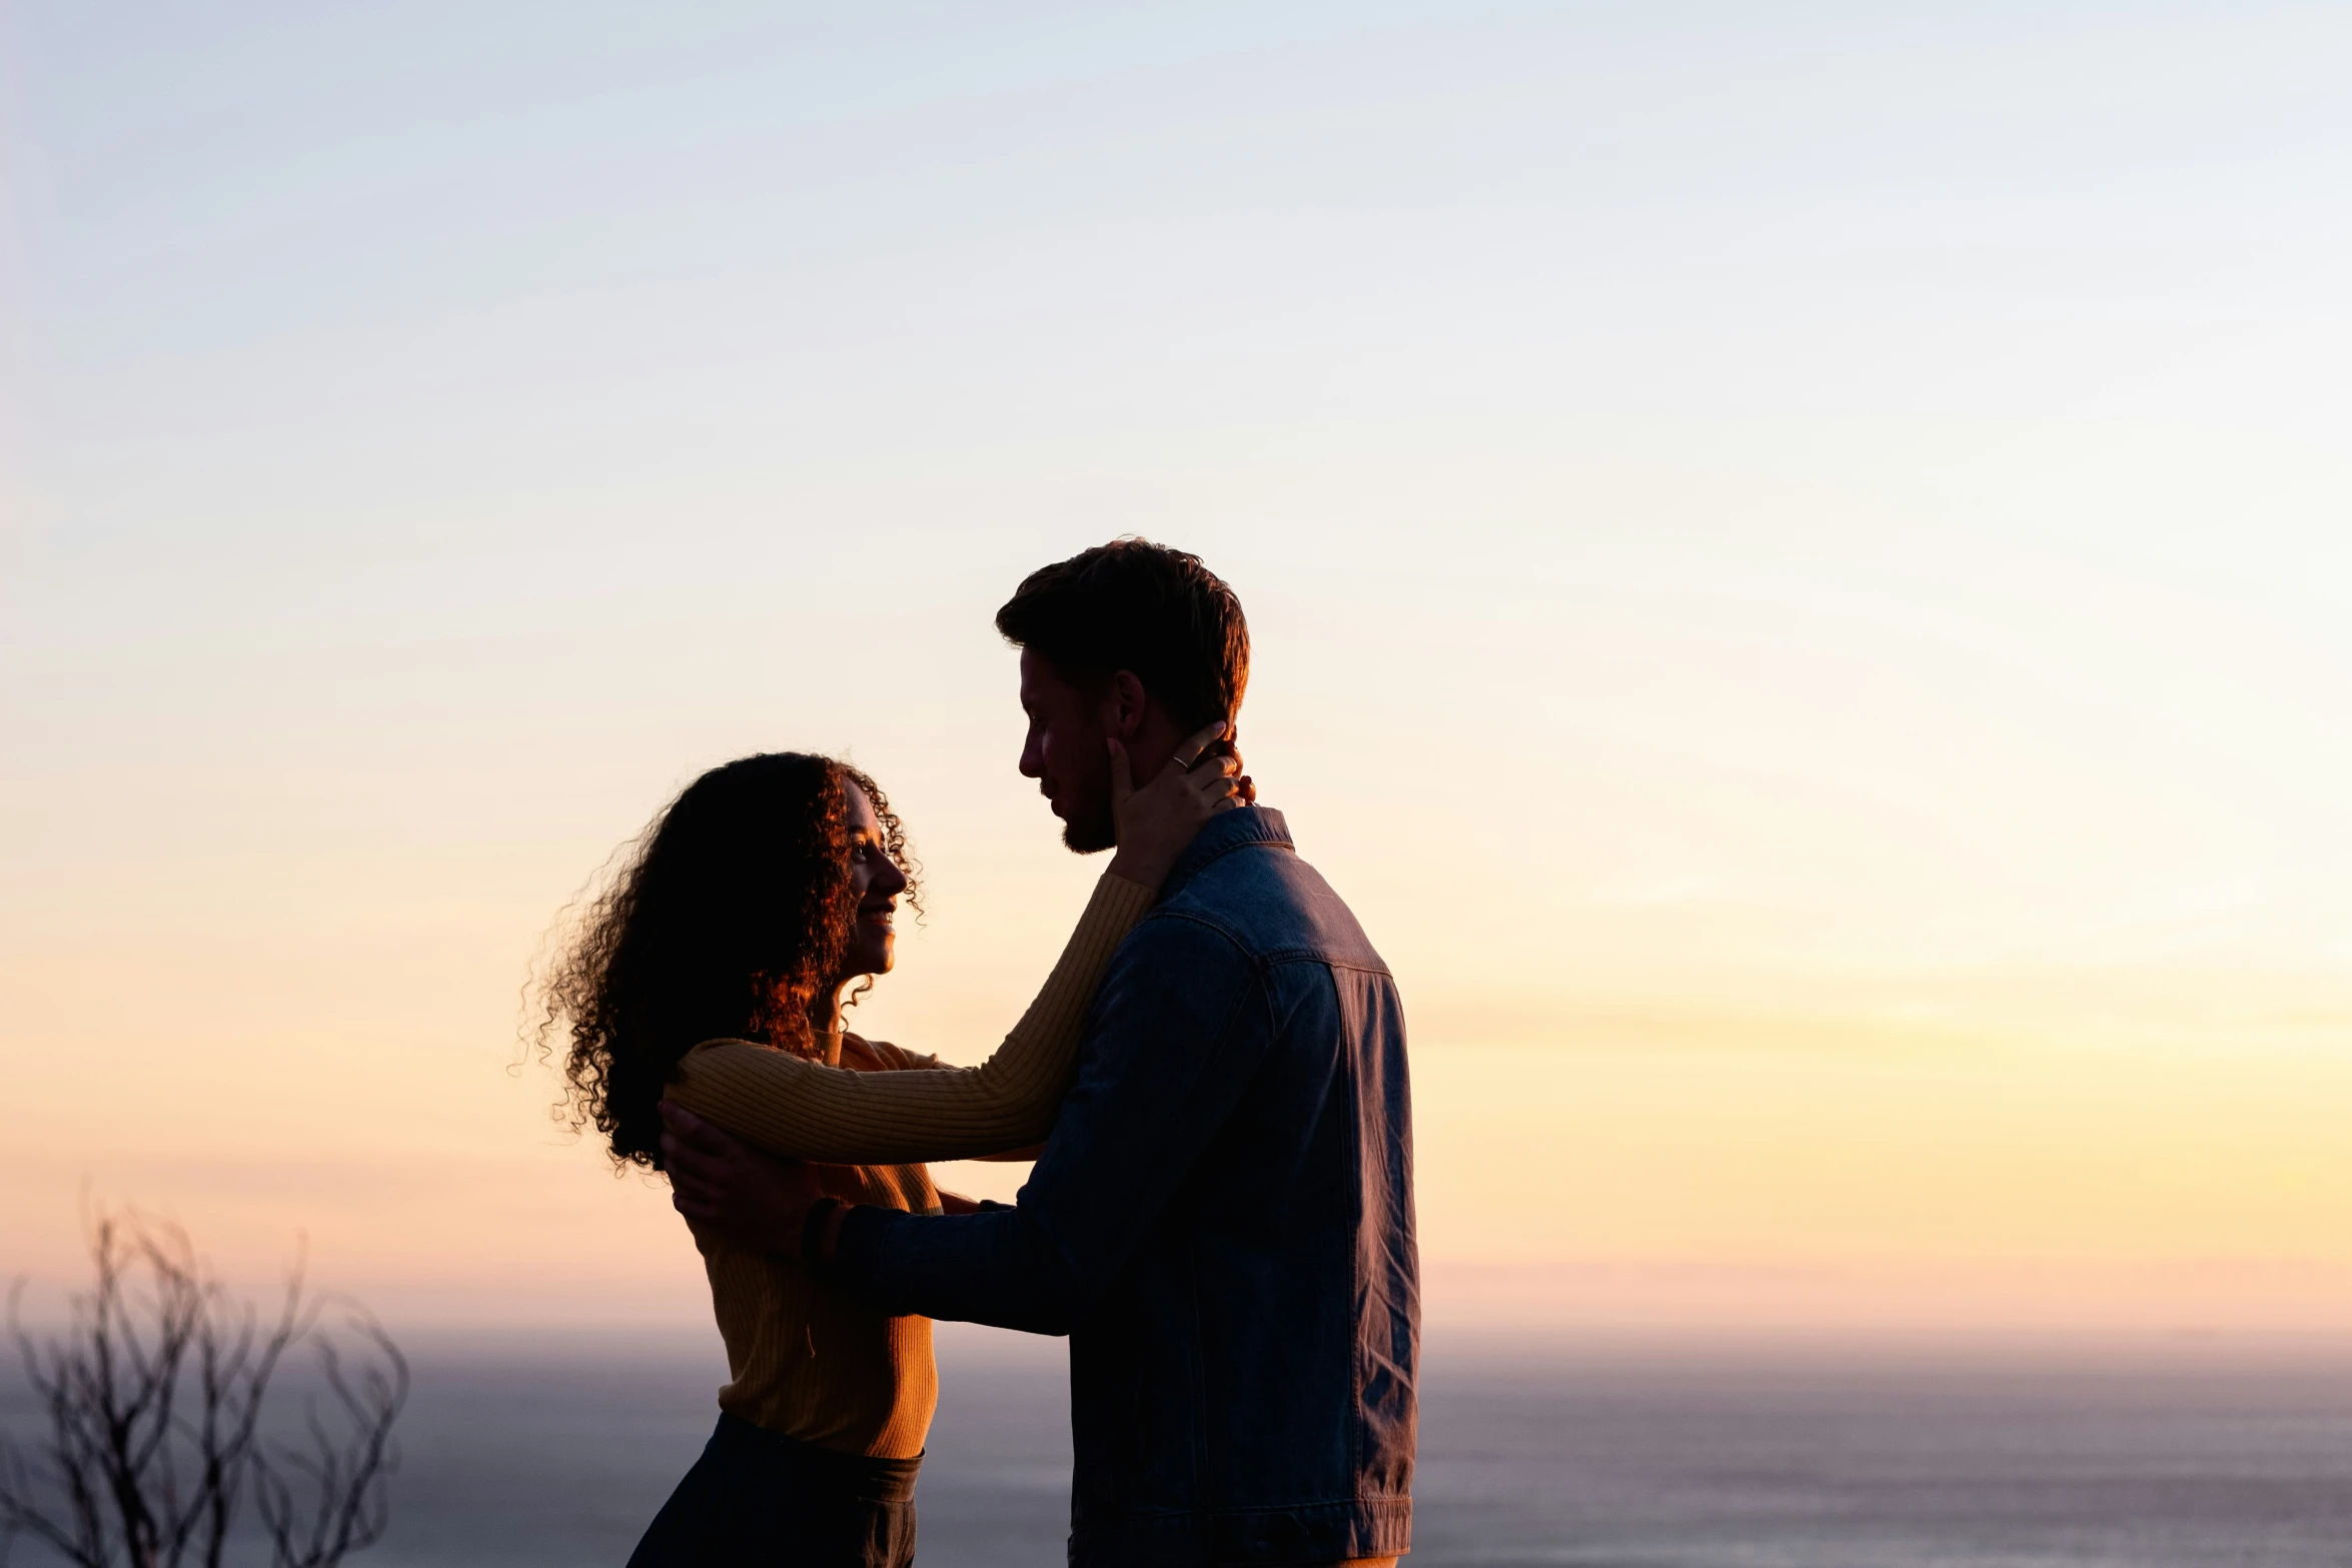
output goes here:
[{"label": "dark high-waisted bottoms worn by the woman", "polygon": [[720,1415],[628,1568],[908,1568],[920,1465]]}]

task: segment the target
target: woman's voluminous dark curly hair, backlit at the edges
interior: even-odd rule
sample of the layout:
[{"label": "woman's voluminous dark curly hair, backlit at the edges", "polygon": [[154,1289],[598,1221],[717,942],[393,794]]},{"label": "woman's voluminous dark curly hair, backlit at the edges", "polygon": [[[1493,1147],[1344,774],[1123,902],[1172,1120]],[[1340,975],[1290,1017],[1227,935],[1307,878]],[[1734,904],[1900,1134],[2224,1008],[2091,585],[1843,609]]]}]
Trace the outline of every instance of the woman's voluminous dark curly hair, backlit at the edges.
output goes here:
[{"label": "woman's voluminous dark curly hair, backlit at the edges", "polygon": [[762,752],[687,785],[581,910],[539,980],[539,1048],[564,1041],[557,1117],[604,1133],[616,1166],[661,1168],[661,1093],[701,1041],[814,1053],[809,1004],[847,978],[856,922],[851,783],[915,903],[906,827],[873,778],[833,757]]}]

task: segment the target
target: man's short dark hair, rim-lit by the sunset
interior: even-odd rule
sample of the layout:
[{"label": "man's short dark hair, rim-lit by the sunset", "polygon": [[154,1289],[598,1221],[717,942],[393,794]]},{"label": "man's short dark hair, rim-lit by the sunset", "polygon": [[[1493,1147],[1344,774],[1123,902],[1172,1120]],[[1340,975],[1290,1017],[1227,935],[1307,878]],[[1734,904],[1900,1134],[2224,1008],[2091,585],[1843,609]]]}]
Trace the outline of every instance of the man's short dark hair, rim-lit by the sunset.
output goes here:
[{"label": "man's short dark hair, rim-lit by the sunset", "polygon": [[1232,588],[1197,555],[1148,538],[1112,538],[1028,574],[997,630],[1070,682],[1131,670],[1188,729],[1232,719],[1249,686],[1249,621]]}]

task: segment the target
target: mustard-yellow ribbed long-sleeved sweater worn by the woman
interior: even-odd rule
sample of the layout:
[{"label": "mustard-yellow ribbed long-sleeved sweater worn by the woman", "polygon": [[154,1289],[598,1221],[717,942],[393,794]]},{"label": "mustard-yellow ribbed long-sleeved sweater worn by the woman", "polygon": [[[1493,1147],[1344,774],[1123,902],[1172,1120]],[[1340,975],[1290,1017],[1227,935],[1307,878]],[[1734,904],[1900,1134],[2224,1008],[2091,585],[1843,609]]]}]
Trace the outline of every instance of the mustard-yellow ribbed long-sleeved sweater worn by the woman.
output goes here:
[{"label": "mustard-yellow ribbed long-sleeved sweater worn by the woman", "polygon": [[[826,1063],[713,1039],[680,1063],[670,1098],[774,1154],[821,1161],[840,1199],[938,1213],[920,1161],[1002,1154],[1054,1131],[1087,1006],[1152,898],[1105,872],[1037,999],[978,1067],[856,1034],[823,1037]],[[713,1241],[703,1265],[727,1342],[722,1410],[840,1453],[922,1453],[938,1403],[931,1319],[882,1316],[774,1253]]]}]

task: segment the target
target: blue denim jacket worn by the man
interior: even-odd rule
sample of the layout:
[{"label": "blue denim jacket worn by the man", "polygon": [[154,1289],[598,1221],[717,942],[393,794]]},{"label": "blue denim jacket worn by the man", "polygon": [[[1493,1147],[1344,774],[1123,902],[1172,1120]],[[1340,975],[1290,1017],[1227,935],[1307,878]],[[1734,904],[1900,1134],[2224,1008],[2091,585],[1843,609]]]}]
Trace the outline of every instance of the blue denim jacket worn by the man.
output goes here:
[{"label": "blue denim jacket worn by the man", "polygon": [[1070,1561],[1411,1544],[1421,1272],[1397,985],[1282,813],[1216,816],[1110,961],[1016,1208],[856,1208],[884,1312],[1070,1335]]}]

